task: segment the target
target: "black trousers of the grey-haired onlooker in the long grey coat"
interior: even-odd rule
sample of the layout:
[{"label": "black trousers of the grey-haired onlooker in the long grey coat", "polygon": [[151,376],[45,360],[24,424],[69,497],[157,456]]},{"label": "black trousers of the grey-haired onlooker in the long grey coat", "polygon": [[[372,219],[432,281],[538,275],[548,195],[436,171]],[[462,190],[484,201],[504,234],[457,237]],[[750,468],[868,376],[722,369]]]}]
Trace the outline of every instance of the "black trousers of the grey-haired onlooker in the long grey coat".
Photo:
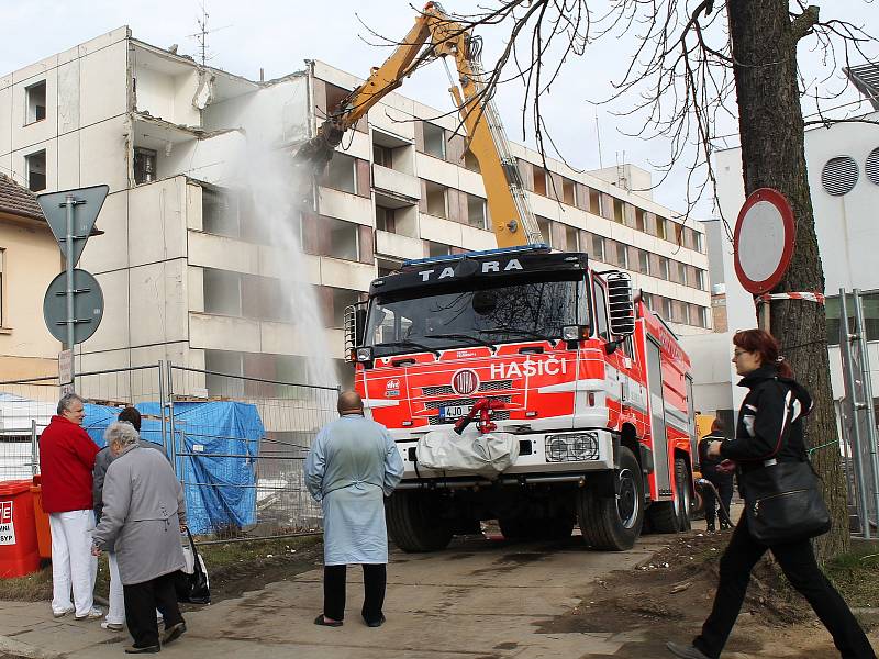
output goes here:
[{"label": "black trousers of the grey-haired onlooker in the long grey coat", "polygon": [[122,587],[122,594],[125,599],[125,624],[134,638],[134,647],[145,648],[158,645],[156,608],[165,618],[166,629],[183,622],[180,607],[177,605],[174,579],[175,573],[171,572],[143,583]]}]

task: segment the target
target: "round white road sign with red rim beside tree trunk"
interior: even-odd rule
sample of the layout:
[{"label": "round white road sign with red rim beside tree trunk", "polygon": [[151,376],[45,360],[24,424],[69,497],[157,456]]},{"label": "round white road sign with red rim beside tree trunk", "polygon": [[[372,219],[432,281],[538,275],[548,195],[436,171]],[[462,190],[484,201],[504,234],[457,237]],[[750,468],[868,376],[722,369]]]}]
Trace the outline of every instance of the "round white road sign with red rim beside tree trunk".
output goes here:
[{"label": "round white road sign with red rim beside tree trunk", "polygon": [[771,291],[793,256],[793,210],[778,190],[750,193],[735,224],[735,273],[746,291]]}]

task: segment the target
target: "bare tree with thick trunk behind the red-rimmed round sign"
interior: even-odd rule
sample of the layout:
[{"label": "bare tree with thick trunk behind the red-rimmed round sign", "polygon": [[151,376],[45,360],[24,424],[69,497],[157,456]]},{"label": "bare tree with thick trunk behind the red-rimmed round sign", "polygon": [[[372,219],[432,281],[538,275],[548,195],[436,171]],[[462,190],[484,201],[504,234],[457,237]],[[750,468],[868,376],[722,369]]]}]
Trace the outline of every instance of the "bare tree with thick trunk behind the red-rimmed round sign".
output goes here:
[{"label": "bare tree with thick trunk behind the red-rimmed round sign", "polygon": [[[746,194],[775,188],[790,201],[795,216],[793,258],[776,292],[824,291],[804,155],[801,100],[806,81],[798,70],[797,48],[810,38],[834,63],[848,64],[853,55],[866,59],[863,47],[875,40],[860,27],[822,21],[819,8],[801,0],[483,1],[478,11],[454,18],[468,31],[493,25],[509,35],[497,60],[486,67],[481,93],[490,98],[499,85],[520,80],[542,154],[547,143],[553,145],[542,103],[565,64],[596,40],[633,34],[626,72],[603,100],[617,105],[628,100],[625,114],[647,118],[636,134],[668,139],[665,169],[687,170],[688,214],[713,189],[711,158],[720,120],[737,119]],[[827,90],[816,94],[816,101],[838,93]],[[523,114],[523,125],[525,119]],[[828,120],[822,115],[819,121]],[[774,302],[771,327],[816,401],[810,440],[815,446],[831,444],[836,424],[823,306]],[[817,543],[820,558],[826,559],[849,546],[845,487],[838,450],[817,450],[812,459],[835,521],[834,530]]]}]

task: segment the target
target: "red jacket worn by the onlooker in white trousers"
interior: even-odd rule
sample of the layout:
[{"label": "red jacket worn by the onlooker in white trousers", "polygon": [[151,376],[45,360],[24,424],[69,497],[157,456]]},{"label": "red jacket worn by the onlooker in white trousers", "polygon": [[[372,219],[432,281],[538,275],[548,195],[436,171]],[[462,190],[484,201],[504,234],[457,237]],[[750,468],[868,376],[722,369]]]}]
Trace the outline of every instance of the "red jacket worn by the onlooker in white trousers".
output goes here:
[{"label": "red jacket worn by the onlooker in white trousers", "polygon": [[92,507],[91,470],[98,445],[88,433],[63,416],[53,416],[40,436],[43,510],[47,513]]}]

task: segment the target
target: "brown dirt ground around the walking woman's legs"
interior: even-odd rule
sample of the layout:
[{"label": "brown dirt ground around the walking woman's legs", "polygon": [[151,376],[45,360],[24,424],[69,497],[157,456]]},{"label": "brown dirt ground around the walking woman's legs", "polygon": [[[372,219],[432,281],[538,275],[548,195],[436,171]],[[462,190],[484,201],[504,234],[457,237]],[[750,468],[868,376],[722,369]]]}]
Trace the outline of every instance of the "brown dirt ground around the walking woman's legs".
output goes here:
[{"label": "brown dirt ground around the walking woman's legs", "polygon": [[[612,572],[607,579],[598,580],[580,606],[547,621],[539,632],[638,628],[644,630],[645,638],[632,644],[628,654],[623,648],[614,655],[615,659],[642,658],[654,652],[657,657],[668,656],[665,643],[691,640],[710,611],[719,558],[731,533],[691,532],[669,536],[668,547],[643,561],[636,570]],[[879,581],[879,567],[871,568],[866,578]],[[865,628],[879,625],[879,610],[871,613],[858,606],[856,611]],[[753,573],[724,657],[735,656],[735,652],[789,659],[836,659],[839,656],[808,602],[788,584],[768,556]]]}]

